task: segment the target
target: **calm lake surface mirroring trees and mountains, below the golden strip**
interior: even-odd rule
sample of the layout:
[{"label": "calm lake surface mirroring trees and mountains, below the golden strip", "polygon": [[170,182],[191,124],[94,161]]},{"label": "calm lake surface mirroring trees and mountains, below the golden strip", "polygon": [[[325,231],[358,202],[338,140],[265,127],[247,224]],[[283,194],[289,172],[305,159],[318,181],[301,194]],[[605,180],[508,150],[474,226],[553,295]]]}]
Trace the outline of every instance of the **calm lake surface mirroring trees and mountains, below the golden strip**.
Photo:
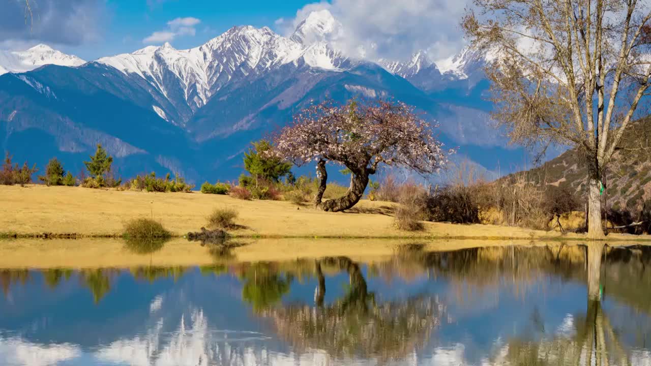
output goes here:
[{"label": "calm lake surface mirroring trees and mountains, below the golden strip", "polygon": [[187,268],[0,269],[0,365],[651,365],[646,247],[210,253]]}]

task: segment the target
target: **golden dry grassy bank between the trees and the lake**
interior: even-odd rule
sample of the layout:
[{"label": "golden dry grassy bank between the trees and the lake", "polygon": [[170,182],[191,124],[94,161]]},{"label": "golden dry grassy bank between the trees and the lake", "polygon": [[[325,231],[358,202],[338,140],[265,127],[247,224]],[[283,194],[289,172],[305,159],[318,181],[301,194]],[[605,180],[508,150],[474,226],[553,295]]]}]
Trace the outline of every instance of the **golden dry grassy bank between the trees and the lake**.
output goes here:
[{"label": "golden dry grassy bank between the trees and the lake", "polygon": [[[79,187],[0,186],[0,231],[5,236],[111,237],[135,218],[154,218],[174,236],[207,225],[215,208],[238,212],[236,236],[254,238],[476,238],[572,239],[582,234],[497,225],[424,223],[424,231],[395,227],[392,203],[361,201],[352,212],[322,212],[285,201],[242,201],[227,195],[146,193]],[[609,240],[648,240],[611,234]]]}]

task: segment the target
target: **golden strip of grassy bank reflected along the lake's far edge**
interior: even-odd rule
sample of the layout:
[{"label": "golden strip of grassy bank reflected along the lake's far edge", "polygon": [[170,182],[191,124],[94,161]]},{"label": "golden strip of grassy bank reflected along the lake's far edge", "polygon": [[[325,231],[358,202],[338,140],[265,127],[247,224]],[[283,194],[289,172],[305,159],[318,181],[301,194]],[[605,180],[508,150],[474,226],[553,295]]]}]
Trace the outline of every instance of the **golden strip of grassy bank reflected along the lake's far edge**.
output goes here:
[{"label": "golden strip of grassy bank reflected along the lake's far edge", "polygon": [[[557,240],[350,240],[260,239],[234,247],[226,257],[214,257],[210,246],[183,239],[170,240],[152,253],[133,253],[124,242],[113,239],[12,240],[0,246],[0,268],[131,268],[172,266],[219,266],[256,262],[313,261],[323,257],[348,257],[357,262],[386,262],[400,248],[419,244],[423,252],[451,252],[480,249],[490,253],[510,246],[549,247],[554,253],[585,242]],[[609,247],[638,246],[637,242],[609,242]],[[574,250],[574,249],[572,249]]]}]

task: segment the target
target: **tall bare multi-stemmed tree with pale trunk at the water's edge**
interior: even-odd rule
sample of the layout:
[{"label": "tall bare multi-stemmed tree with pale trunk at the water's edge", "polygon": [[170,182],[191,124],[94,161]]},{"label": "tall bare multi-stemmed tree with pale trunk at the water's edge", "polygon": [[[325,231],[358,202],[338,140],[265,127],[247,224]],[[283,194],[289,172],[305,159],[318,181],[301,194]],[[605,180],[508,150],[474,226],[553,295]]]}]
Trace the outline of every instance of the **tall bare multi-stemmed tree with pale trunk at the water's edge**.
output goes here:
[{"label": "tall bare multi-stemmed tree with pale trunk at the water's edge", "polygon": [[651,8],[644,0],[475,0],[463,20],[495,59],[495,119],[516,143],[576,147],[589,172],[590,238],[602,238],[604,169],[648,96]]}]

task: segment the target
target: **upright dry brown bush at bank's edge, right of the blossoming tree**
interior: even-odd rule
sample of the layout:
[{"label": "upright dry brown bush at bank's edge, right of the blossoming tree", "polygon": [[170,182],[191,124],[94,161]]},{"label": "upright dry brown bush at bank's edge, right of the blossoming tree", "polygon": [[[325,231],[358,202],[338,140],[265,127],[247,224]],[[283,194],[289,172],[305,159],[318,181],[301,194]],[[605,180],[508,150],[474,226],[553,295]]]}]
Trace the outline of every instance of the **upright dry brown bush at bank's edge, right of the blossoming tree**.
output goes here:
[{"label": "upright dry brown bush at bank's edge, right of the blossoming tree", "polygon": [[428,192],[417,184],[400,186],[398,207],[395,210],[396,227],[405,231],[421,231],[422,220],[428,219]]}]

